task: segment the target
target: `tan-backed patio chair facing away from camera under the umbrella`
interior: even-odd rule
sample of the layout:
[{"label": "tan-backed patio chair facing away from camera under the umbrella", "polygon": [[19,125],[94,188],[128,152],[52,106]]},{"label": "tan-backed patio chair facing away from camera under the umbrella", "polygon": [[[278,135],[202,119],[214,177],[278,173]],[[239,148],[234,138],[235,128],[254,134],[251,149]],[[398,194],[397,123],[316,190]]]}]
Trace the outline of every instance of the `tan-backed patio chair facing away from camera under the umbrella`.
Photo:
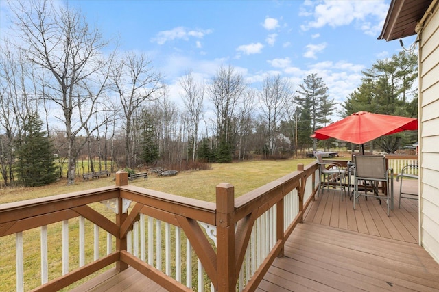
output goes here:
[{"label": "tan-backed patio chair facing away from camera under the umbrella", "polygon": [[[384,155],[354,155],[355,173],[354,173],[354,200],[353,208],[355,209],[355,202],[359,196],[373,196],[381,198],[378,192],[378,183],[385,185],[383,191],[385,202],[387,204],[387,215],[390,216],[390,208],[393,209],[393,169],[387,168]],[[370,182],[370,190],[364,191],[364,194],[359,193],[359,181]],[[390,185],[390,188],[389,188]],[[365,187],[366,184],[365,184]],[[381,200],[380,200],[381,204]]]}]

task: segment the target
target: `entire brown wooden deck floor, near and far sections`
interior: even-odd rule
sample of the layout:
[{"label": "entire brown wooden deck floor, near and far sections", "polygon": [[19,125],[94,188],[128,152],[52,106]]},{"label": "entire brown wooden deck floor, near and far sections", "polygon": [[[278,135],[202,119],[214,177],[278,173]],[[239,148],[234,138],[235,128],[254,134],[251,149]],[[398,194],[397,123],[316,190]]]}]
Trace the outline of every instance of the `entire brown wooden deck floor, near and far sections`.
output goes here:
[{"label": "entire brown wooden deck floor, near and far sections", "polygon": [[[395,181],[396,183],[396,181]],[[416,189],[416,181],[407,184]],[[395,193],[399,185],[395,184]],[[439,265],[418,245],[418,202],[385,203],[325,192],[308,209],[257,291],[439,291]],[[132,268],[73,291],[165,291]]]}]

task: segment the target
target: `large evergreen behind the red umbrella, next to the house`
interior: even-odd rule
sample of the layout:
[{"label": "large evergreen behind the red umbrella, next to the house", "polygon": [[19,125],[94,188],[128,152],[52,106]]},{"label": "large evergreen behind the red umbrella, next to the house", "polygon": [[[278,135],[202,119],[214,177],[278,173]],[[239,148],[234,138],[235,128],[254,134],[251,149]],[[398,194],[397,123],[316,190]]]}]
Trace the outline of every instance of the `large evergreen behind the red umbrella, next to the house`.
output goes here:
[{"label": "large evergreen behind the red umbrella, next to the house", "polygon": [[[378,60],[363,72],[361,85],[343,104],[345,116],[357,111],[375,114],[417,117],[417,91],[413,88],[418,76],[416,55],[401,51],[390,59]],[[386,135],[374,140],[385,152],[396,151],[401,144],[416,142],[416,131]]]}]

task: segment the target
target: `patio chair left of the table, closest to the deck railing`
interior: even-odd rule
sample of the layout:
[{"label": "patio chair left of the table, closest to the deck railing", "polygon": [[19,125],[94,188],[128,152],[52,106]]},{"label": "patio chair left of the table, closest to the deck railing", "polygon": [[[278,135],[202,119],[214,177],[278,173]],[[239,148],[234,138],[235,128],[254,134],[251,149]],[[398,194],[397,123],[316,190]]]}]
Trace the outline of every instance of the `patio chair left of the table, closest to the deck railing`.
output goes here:
[{"label": "patio chair left of the table, closest to the deck railing", "polygon": [[343,200],[343,195],[346,194],[346,170],[340,163],[324,161],[322,153],[316,153],[315,155],[319,165],[318,169],[320,174],[320,184],[318,188],[319,196],[324,187],[327,187],[327,189],[329,189],[329,187],[340,187],[340,194],[342,195]]}]

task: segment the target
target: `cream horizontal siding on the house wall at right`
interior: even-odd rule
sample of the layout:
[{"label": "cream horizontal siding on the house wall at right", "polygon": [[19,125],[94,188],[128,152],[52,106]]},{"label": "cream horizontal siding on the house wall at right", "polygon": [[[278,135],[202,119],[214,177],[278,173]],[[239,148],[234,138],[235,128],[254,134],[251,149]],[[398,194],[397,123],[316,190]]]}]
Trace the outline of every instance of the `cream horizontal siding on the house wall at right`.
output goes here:
[{"label": "cream horizontal siding on the house wall at right", "polygon": [[439,262],[439,13],[420,34],[420,244]]}]

